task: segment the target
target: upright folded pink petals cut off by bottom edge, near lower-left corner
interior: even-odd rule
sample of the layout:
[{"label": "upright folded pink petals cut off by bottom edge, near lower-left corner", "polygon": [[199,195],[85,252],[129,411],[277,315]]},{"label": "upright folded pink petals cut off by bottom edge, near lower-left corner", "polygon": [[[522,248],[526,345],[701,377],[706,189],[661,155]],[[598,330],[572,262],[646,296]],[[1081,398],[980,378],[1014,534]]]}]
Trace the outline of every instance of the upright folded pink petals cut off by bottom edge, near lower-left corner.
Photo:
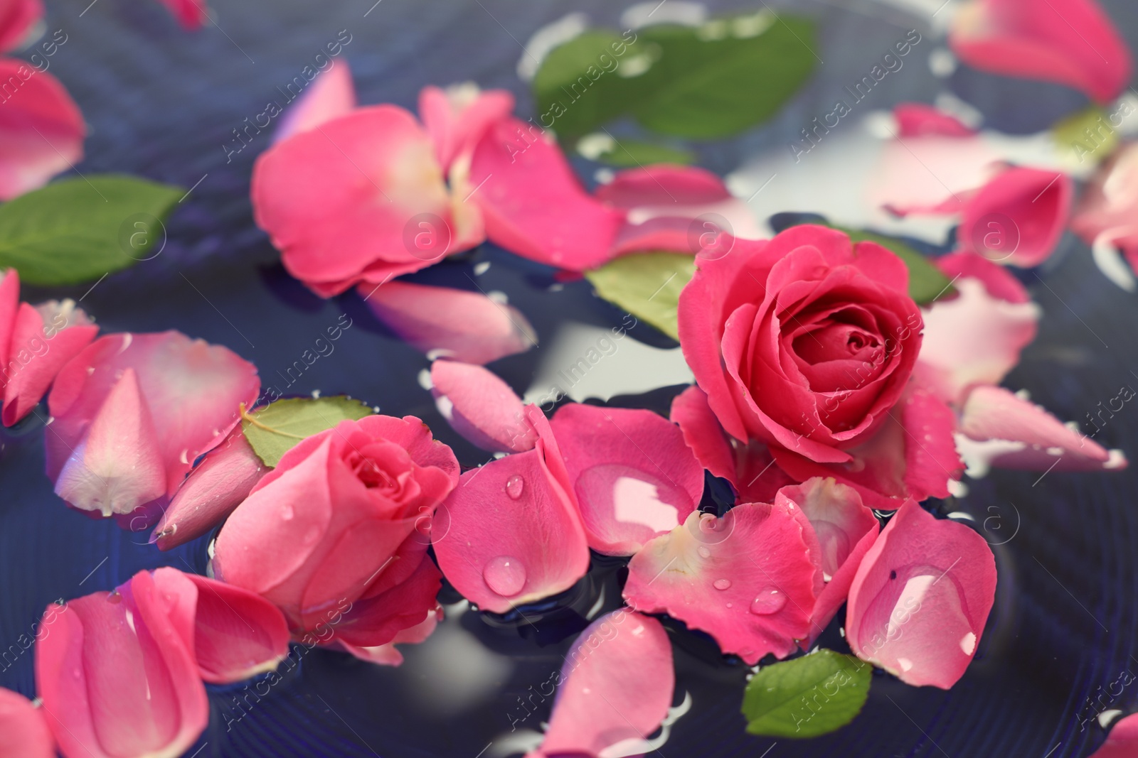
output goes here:
[{"label": "upright folded pink petals cut off by bottom edge, near lower-left corner", "polygon": [[205,730],[192,605],[159,592],[149,572],[118,593],[49,606],[44,619],[35,682],[65,756],[175,758]]}]

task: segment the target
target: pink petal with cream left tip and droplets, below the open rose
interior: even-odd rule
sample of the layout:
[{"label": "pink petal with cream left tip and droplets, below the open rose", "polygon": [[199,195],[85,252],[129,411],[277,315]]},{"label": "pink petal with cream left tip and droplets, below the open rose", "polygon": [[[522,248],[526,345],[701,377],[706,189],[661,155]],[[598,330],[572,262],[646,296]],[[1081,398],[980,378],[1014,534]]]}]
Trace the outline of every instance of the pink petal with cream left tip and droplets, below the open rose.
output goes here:
[{"label": "pink petal with cream left tip and droplets, below the open rose", "polygon": [[780,505],[693,513],[633,556],[624,597],[716,639],[750,665],[782,658],[810,634],[815,565],[803,525]]}]

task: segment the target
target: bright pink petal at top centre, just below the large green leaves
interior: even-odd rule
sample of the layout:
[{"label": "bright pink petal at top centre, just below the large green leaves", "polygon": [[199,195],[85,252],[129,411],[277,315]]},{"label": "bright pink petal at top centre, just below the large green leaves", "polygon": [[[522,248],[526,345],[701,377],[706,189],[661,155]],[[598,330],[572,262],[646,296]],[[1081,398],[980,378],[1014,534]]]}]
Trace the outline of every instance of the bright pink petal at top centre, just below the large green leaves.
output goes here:
[{"label": "bright pink petal at top centre, just below the large green leaves", "polygon": [[492,126],[475,148],[470,183],[486,236],[506,250],[569,270],[612,257],[625,214],[580,186],[550,135],[517,118]]}]

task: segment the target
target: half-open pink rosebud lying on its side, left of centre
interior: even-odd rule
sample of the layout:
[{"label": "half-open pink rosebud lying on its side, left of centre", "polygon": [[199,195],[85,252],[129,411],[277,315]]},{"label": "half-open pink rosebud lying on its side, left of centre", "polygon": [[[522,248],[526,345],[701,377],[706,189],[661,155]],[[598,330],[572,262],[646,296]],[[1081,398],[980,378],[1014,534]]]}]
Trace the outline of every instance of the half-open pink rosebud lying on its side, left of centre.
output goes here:
[{"label": "half-open pink rosebud lying on its side, left of centre", "polygon": [[294,635],[385,644],[436,607],[440,575],[417,526],[457,482],[451,448],[418,418],[340,422],[284,453],[237,507],[214,569],[275,603]]}]

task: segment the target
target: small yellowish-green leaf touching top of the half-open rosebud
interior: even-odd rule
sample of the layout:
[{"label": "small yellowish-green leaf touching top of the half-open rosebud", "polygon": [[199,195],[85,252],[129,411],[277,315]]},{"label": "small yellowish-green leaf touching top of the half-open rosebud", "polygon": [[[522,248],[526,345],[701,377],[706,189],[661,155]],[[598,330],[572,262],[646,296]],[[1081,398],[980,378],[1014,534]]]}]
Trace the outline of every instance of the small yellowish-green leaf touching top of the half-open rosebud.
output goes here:
[{"label": "small yellowish-green leaf touching top of the half-open rosebud", "polygon": [[358,419],[371,408],[346,395],[288,398],[248,413],[241,408],[241,431],[253,451],[266,466],[277,466],[281,456],[300,440],[330,430],[346,418]]}]

